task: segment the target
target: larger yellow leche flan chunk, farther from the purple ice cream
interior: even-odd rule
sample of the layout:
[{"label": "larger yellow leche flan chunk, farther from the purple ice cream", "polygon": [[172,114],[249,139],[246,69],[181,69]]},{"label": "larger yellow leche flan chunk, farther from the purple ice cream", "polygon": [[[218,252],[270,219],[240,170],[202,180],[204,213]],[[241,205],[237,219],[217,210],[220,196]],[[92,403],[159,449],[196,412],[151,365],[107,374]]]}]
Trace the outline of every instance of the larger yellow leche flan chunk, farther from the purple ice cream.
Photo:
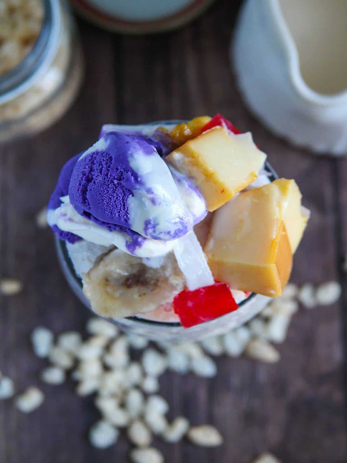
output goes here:
[{"label": "larger yellow leche flan chunk, farther from the purple ice cream", "polygon": [[270,297],[282,294],[307,222],[297,191],[293,180],[276,180],[215,212],[204,246],[215,280]]}]

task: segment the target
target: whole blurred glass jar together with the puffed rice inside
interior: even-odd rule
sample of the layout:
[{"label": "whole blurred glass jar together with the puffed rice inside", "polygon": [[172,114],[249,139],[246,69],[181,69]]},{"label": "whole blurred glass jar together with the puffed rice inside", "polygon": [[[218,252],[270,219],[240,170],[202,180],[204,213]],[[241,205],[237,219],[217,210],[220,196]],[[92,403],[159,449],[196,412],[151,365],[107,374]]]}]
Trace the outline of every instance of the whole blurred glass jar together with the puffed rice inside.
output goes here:
[{"label": "whole blurred glass jar together with the puffed rice inside", "polygon": [[41,131],[62,116],[82,69],[64,0],[0,0],[0,142]]}]

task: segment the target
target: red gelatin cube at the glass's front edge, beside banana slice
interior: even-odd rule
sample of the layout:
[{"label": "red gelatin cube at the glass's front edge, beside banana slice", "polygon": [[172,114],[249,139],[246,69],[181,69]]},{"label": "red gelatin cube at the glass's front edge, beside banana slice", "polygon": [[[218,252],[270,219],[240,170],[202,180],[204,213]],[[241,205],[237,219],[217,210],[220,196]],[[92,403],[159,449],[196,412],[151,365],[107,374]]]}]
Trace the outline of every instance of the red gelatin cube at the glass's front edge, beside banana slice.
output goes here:
[{"label": "red gelatin cube at the glass's front edge, beside banana slice", "polygon": [[184,328],[221,317],[239,307],[229,286],[219,282],[195,291],[181,291],[175,296],[173,304]]}]

